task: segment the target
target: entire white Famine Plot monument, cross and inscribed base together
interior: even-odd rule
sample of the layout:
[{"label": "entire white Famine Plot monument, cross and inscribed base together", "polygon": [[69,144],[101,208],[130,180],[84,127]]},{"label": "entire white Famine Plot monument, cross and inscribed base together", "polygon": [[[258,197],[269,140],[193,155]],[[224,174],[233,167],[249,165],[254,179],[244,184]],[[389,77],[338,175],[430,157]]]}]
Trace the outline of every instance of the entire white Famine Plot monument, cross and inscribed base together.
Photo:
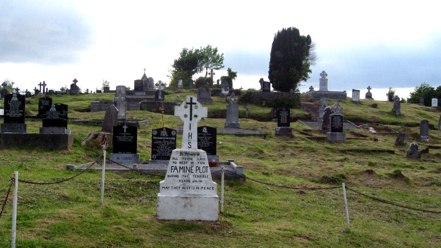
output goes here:
[{"label": "entire white Famine Plot monument, cross and inscribed base together", "polygon": [[184,122],[182,148],[172,152],[165,180],[159,183],[157,217],[161,220],[217,221],[219,197],[212,181],[207,153],[198,149],[198,122],[207,107],[187,96],[175,107]]}]

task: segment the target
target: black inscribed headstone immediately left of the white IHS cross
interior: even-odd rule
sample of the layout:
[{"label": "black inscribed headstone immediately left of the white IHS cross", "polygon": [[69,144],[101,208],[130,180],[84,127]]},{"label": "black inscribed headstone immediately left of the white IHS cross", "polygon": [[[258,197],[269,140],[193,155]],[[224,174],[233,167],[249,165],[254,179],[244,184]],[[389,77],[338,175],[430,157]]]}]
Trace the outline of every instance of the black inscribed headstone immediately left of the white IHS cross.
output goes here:
[{"label": "black inscribed headstone immediately left of the white IHS cross", "polygon": [[151,130],[151,159],[170,160],[176,149],[176,130],[162,127]]}]

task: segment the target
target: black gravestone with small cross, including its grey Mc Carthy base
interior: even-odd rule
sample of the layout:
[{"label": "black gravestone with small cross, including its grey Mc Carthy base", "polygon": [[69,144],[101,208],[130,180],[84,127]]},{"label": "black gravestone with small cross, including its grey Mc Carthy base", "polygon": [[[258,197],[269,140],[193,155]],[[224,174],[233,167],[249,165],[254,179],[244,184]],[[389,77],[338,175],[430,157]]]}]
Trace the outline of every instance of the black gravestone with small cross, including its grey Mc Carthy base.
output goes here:
[{"label": "black gravestone with small cross, including its grey Mc Carthy base", "polygon": [[118,163],[139,163],[138,127],[134,125],[116,125],[113,127],[113,152],[110,160]]}]

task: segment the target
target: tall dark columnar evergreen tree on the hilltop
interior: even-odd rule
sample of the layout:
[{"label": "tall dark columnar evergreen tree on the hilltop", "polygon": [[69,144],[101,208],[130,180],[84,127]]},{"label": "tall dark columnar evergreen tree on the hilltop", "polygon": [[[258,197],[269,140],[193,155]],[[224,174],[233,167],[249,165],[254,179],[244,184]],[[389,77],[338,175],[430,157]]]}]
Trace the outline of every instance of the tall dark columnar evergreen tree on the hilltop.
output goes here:
[{"label": "tall dark columnar evergreen tree on the hilltop", "polygon": [[300,35],[295,27],[283,28],[274,36],[268,78],[275,90],[296,90],[309,78],[309,65],[316,60],[315,44],[309,35]]}]

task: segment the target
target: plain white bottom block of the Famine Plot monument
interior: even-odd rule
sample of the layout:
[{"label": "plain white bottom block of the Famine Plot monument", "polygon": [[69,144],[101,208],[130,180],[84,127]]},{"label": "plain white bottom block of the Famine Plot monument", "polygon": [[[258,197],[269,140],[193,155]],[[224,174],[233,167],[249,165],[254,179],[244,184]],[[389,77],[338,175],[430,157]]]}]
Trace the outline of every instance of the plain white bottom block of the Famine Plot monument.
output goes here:
[{"label": "plain white bottom block of the Famine Plot monument", "polygon": [[158,193],[158,220],[217,221],[217,195],[164,195]]}]

